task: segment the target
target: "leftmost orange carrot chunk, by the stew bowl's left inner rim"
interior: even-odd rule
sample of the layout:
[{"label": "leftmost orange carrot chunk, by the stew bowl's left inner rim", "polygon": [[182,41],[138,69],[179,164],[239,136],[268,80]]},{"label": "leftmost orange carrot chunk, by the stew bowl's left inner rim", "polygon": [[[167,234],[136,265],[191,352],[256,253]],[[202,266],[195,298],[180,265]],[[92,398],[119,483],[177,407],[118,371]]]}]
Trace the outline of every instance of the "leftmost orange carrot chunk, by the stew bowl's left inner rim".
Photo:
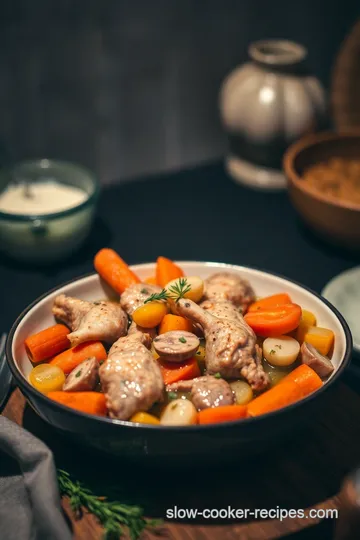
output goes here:
[{"label": "leftmost orange carrot chunk, by the stew bowl's left inner rim", "polygon": [[70,330],[63,324],[55,324],[25,339],[25,349],[30,360],[37,364],[68,349]]}]

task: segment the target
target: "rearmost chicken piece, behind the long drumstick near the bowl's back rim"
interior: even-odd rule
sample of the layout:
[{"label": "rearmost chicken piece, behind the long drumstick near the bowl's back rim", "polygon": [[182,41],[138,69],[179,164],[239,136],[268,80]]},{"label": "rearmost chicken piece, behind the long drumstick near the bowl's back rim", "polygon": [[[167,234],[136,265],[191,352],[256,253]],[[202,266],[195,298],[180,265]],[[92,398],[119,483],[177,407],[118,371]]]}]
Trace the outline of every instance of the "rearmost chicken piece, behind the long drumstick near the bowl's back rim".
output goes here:
[{"label": "rearmost chicken piece, behind the long drumstick near the bowl's back rim", "polygon": [[204,300],[229,301],[237,308],[246,311],[255,300],[250,283],[237,274],[218,272],[205,280]]}]

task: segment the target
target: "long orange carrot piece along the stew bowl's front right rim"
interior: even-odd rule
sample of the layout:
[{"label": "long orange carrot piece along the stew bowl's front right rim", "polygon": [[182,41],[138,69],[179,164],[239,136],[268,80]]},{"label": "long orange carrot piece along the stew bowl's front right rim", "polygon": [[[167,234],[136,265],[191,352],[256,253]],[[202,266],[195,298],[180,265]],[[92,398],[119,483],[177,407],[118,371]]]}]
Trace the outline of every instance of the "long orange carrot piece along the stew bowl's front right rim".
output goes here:
[{"label": "long orange carrot piece along the stew bowl's front right rim", "polygon": [[[286,379],[286,377],[285,377]],[[282,409],[291,405],[304,397],[301,387],[294,381],[285,382],[283,379],[279,384],[264,392],[247,404],[249,416],[259,416],[277,409]]]}]

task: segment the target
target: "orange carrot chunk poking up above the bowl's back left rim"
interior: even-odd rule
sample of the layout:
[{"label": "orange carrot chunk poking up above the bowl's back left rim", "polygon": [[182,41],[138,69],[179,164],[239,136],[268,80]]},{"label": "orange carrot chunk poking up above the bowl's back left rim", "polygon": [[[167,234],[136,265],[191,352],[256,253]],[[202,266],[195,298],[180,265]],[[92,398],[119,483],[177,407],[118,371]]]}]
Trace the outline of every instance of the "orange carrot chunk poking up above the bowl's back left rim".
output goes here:
[{"label": "orange carrot chunk poking up above the bowl's back left rim", "polygon": [[119,294],[130,285],[140,283],[138,276],[113,249],[100,249],[95,255],[94,266],[97,273]]}]

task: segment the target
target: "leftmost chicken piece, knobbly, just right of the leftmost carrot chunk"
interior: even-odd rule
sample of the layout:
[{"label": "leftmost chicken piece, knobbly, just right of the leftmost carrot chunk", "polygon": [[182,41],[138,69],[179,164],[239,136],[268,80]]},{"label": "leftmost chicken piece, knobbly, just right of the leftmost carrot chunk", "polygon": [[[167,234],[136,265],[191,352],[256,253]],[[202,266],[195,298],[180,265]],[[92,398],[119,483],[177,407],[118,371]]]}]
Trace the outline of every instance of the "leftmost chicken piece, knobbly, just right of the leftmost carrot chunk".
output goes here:
[{"label": "leftmost chicken piece, knobbly, just right of the leftmost carrot chunk", "polygon": [[73,347],[93,340],[113,343],[126,334],[128,327],[126,313],[115,302],[85,302],[60,294],[52,312],[71,328],[68,338]]}]

